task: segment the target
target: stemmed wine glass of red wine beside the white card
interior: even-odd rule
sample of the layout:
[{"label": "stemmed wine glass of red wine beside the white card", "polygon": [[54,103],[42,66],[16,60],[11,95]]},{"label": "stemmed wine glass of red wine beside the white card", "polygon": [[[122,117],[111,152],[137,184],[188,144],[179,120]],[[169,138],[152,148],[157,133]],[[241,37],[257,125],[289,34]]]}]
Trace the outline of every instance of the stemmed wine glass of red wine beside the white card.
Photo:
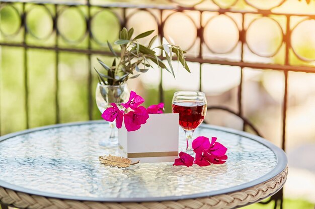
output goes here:
[{"label": "stemmed wine glass of red wine beside the white card", "polygon": [[202,123],[207,112],[205,94],[200,91],[175,92],[172,101],[172,112],[179,113],[179,125],[186,135],[186,153],[192,154],[192,137],[194,130]]}]

